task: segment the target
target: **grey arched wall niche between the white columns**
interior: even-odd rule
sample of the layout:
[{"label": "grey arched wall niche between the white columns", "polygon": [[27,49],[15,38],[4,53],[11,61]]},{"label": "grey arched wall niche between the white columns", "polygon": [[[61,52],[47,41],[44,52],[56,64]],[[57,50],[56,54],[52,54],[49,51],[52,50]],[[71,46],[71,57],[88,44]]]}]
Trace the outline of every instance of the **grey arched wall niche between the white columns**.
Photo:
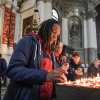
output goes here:
[{"label": "grey arched wall niche between the white columns", "polygon": [[68,42],[75,49],[82,48],[82,22],[80,17],[71,16],[68,20]]}]

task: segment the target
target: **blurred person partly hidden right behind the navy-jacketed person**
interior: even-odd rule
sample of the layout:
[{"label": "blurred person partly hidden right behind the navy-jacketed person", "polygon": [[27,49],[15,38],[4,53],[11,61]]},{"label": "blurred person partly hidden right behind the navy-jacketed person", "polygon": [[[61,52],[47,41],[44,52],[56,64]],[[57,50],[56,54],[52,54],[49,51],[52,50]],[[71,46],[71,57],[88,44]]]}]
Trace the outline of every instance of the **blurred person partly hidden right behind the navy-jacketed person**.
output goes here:
[{"label": "blurred person partly hidden right behind the navy-jacketed person", "polygon": [[67,74],[69,69],[69,63],[67,59],[67,50],[65,50],[65,46],[62,42],[59,42],[54,51],[54,67],[57,69],[65,70],[65,73],[62,75],[64,80],[67,81]]}]

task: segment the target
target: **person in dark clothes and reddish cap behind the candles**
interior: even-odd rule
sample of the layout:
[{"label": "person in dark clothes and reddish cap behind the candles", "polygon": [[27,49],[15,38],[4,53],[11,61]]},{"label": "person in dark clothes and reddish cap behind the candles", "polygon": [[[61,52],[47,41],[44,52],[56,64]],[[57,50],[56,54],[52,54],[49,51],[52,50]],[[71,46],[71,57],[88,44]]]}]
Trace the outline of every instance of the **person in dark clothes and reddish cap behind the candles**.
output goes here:
[{"label": "person in dark clothes and reddish cap behind the candles", "polygon": [[84,71],[81,66],[80,55],[74,51],[69,60],[68,80],[75,81],[83,76]]}]

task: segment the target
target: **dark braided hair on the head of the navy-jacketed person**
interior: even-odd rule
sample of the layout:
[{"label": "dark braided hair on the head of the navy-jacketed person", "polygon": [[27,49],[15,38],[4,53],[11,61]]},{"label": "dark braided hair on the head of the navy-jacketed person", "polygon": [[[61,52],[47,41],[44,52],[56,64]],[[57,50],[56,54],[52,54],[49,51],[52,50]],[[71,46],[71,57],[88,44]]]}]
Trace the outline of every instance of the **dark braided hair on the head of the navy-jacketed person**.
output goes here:
[{"label": "dark braided hair on the head of the navy-jacketed person", "polygon": [[38,35],[43,39],[44,43],[48,42],[54,24],[60,25],[59,22],[54,19],[48,19],[40,25]]}]

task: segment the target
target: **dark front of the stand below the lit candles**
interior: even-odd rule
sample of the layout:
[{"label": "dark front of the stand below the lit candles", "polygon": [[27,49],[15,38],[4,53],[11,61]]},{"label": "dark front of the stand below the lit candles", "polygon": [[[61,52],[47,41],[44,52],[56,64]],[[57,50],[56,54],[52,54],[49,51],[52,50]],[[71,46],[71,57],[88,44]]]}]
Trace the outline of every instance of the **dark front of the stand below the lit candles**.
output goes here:
[{"label": "dark front of the stand below the lit candles", "polygon": [[100,100],[100,88],[56,85],[56,100]]}]

